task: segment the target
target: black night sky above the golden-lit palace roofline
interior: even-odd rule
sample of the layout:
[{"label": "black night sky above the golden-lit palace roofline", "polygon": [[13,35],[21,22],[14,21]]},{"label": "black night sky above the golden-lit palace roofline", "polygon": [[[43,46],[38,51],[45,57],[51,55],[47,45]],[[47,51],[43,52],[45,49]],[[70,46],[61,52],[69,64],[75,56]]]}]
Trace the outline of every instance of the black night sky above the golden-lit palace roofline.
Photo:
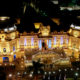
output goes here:
[{"label": "black night sky above the golden-lit palace roofline", "polygon": [[[34,5],[30,5],[33,3]],[[0,16],[10,16],[10,20],[0,21],[0,28],[11,26],[16,22],[16,18],[21,19],[21,23],[17,25],[18,30],[23,32],[37,31],[34,28],[35,22],[42,22],[45,26],[50,25],[51,31],[69,29],[70,24],[80,25],[80,11],[60,10],[61,5],[69,4],[79,5],[79,0],[59,0],[59,4],[55,5],[51,0],[2,0],[0,1]],[[26,4],[26,10],[24,5]],[[58,18],[60,25],[52,21],[52,18]]]}]

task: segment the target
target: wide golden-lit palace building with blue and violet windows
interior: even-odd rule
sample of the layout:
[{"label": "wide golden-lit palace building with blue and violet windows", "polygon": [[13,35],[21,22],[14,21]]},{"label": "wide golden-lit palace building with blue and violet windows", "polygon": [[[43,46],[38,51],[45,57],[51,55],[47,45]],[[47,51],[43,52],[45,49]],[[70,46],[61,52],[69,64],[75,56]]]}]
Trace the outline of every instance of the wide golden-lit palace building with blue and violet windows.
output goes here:
[{"label": "wide golden-lit palace building with blue and violet windows", "polygon": [[17,27],[0,31],[0,63],[13,62],[24,56],[25,50],[53,48],[80,51],[80,27],[71,25],[68,32],[50,32],[50,26],[40,25],[38,33],[19,33]]}]

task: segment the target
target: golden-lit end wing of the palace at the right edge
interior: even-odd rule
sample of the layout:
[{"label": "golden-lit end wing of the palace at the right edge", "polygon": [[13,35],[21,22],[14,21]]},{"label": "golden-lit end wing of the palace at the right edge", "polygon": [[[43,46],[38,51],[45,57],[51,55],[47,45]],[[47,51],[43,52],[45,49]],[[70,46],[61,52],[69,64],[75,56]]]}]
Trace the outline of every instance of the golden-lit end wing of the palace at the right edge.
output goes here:
[{"label": "golden-lit end wing of the palace at the right edge", "polygon": [[69,33],[69,48],[80,51],[80,27],[71,25]]}]

